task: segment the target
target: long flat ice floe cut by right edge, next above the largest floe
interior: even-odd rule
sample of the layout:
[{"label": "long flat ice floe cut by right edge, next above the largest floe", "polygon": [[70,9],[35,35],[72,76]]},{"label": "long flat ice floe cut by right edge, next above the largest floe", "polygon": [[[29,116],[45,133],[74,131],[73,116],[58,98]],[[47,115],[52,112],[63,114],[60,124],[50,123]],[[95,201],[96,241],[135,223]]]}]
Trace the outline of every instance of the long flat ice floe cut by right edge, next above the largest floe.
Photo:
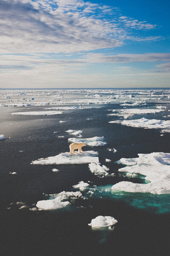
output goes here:
[{"label": "long flat ice floe cut by right edge, next above the largest floe", "polygon": [[132,127],[142,127],[142,128],[167,128],[170,129],[170,120],[164,121],[164,120],[157,120],[157,119],[133,119],[133,120],[123,120],[123,121],[111,121],[109,123],[121,123],[122,125],[132,126]]}]

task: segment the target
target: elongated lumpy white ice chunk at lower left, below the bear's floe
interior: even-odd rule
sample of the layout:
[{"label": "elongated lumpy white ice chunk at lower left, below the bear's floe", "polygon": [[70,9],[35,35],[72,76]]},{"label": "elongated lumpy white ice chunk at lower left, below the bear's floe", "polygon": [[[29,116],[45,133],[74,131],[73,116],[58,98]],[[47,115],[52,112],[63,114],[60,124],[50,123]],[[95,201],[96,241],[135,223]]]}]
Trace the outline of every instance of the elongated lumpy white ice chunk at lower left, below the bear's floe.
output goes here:
[{"label": "elongated lumpy white ice chunk at lower left, below the bear's floe", "polygon": [[54,209],[61,209],[66,207],[68,204],[70,204],[68,200],[69,198],[71,199],[76,199],[80,198],[82,196],[81,192],[61,192],[59,194],[54,195],[54,199],[50,200],[42,200],[38,201],[36,204],[36,207],[39,210],[54,210]]}]

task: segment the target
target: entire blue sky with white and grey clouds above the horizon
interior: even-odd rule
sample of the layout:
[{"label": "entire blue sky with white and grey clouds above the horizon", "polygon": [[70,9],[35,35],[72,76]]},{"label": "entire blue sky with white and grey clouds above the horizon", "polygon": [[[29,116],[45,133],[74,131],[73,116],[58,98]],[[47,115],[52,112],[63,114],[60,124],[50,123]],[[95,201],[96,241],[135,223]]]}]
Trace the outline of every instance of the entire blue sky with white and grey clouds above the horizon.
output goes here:
[{"label": "entire blue sky with white and grey clouds above the horizon", "polygon": [[169,0],[0,0],[0,89],[170,87]]}]

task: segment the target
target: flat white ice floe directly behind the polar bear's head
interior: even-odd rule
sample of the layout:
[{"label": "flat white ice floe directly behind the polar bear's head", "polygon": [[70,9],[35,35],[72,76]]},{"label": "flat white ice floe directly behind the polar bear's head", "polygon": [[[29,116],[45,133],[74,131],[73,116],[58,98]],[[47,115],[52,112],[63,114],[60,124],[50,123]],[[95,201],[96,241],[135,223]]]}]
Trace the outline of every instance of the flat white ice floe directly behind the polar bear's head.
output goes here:
[{"label": "flat white ice floe directly behind the polar bear's head", "polygon": [[103,146],[106,142],[103,142],[104,137],[92,137],[85,139],[69,138],[68,141],[72,143],[85,143],[88,146]]}]

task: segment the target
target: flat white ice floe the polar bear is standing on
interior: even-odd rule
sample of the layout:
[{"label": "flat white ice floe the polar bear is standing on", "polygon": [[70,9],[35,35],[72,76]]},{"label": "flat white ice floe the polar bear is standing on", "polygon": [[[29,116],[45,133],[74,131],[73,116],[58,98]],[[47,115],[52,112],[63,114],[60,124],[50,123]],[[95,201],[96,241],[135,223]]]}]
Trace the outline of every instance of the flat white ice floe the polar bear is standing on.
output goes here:
[{"label": "flat white ice floe the polar bear is standing on", "polygon": [[82,164],[82,163],[99,163],[98,152],[95,151],[84,151],[79,153],[74,151],[73,154],[69,152],[58,154],[54,157],[40,158],[33,161],[31,164]]}]

